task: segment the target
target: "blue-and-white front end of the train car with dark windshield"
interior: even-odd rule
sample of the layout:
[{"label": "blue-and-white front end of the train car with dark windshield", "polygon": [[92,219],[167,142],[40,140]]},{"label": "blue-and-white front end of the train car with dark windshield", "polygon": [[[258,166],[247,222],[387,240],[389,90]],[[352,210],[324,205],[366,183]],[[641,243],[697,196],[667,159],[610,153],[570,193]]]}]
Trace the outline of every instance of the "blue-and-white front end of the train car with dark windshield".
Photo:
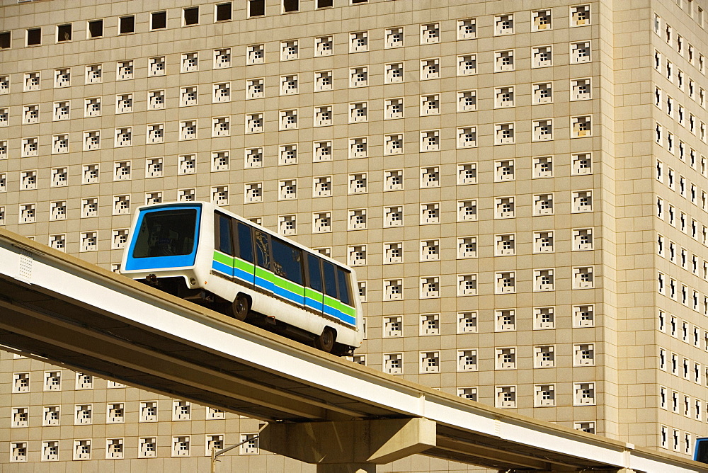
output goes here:
[{"label": "blue-and-white front end of the train car with dark windshield", "polygon": [[199,264],[200,252],[210,251],[200,251],[205,212],[202,203],[139,207],[120,272],[180,297],[198,291],[209,272]]}]

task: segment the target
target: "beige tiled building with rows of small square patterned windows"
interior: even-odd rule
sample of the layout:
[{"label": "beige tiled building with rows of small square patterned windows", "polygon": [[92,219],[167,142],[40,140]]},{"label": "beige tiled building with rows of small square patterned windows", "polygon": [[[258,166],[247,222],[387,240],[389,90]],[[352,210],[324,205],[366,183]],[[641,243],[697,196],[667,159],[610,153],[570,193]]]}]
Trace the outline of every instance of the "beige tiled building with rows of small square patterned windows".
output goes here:
[{"label": "beige tiled building with rows of small square patterned windows", "polygon": [[[356,268],[358,363],[676,455],[707,435],[704,0],[0,5],[6,229],[118,269],[137,205],[212,200]],[[91,440],[176,469],[144,438],[191,435],[187,465],[258,427],[1,367],[8,468]],[[457,468],[418,460],[392,468]]]}]

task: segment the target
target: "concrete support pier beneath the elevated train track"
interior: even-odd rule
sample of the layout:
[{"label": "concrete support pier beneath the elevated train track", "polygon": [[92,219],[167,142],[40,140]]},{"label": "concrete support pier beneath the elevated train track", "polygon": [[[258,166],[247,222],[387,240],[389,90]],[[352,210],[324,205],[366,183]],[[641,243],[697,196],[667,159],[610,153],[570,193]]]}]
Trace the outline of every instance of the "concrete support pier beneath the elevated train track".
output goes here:
[{"label": "concrete support pier beneath the elevated train track", "polygon": [[426,418],[377,421],[269,423],[259,446],[318,465],[318,473],[370,473],[375,465],[424,452],[436,445],[435,422]]}]

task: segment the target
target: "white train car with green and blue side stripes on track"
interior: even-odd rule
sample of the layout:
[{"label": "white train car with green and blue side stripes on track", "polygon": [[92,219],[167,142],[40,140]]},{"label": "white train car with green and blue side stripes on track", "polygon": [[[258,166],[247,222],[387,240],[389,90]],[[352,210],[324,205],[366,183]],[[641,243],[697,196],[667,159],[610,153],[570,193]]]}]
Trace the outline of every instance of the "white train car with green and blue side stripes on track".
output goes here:
[{"label": "white train car with green and blue side stripes on track", "polygon": [[212,203],[139,207],[121,273],[322,351],[362,342],[356,275]]}]

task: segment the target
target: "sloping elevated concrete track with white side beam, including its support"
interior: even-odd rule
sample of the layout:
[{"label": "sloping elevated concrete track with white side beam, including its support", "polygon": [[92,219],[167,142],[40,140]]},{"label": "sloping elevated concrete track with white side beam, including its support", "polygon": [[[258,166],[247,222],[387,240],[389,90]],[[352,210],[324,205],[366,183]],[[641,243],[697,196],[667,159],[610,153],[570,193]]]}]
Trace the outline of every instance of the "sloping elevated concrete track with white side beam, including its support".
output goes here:
[{"label": "sloping elevated concrete track with white side beam, including its support", "polygon": [[501,471],[708,471],[316,351],[3,229],[0,343],[268,421],[261,448],[319,472],[416,453]]}]

